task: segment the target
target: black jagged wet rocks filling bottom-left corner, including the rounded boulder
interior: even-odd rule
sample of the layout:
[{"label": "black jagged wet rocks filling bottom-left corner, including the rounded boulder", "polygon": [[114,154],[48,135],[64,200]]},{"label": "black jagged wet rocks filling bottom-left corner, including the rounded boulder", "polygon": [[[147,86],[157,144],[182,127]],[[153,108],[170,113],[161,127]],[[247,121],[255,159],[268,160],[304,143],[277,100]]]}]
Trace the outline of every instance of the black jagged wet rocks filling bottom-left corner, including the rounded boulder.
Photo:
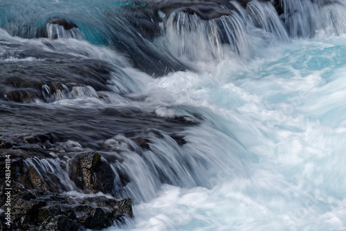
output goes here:
[{"label": "black jagged wet rocks filling bottom-left corner, including the rounded boulder", "polygon": [[[64,185],[66,181],[62,181],[62,178],[58,176],[52,178],[47,172],[42,176],[43,171],[36,169],[38,165],[28,165],[23,156],[11,154],[10,158],[12,176],[11,201],[8,206],[12,216],[10,230],[81,230],[82,228],[100,230],[115,223],[123,223],[125,219],[133,216],[130,198],[116,200],[94,194],[67,196],[62,194],[69,191]],[[69,168],[82,167],[91,171],[80,172],[85,184],[84,191],[88,187],[93,191],[104,193],[111,190],[113,180],[107,177],[112,170],[107,163],[102,162],[100,154],[80,154],[79,158],[79,163],[76,163],[79,166],[73,166],[72,162]],[[8,192],[5,190],[5,159],[6,156],[1,154],[0,202],[1,205],[5,205],[2,207],[3,210],[7,210],[5,192]],[[101,167],[103,169],[100,169]],[[104,172],[105,170],[107,172]],[[101,176],[103,178],[100,178]],[[5,214],[0,214],[1,221],[5,221],[4,218]],[[2,225],[5,230],[8,229],[7,225]]]}]

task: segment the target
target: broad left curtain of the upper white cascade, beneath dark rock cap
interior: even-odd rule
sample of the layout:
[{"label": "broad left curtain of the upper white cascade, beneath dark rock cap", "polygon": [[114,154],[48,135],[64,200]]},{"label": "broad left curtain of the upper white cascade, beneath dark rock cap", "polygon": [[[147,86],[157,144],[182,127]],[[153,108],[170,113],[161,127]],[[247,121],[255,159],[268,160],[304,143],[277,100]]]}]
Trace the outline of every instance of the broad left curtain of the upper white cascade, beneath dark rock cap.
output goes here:
[{"label": "broad left curtain of the upper white cascade, beneath dark rock cap", "polygon": [[203,20],[195,14],[173,12],[165,27],[170,53],[176,57],[222,59],[224,44],[235,53],[249,56],[246,25],[237,13]]}]

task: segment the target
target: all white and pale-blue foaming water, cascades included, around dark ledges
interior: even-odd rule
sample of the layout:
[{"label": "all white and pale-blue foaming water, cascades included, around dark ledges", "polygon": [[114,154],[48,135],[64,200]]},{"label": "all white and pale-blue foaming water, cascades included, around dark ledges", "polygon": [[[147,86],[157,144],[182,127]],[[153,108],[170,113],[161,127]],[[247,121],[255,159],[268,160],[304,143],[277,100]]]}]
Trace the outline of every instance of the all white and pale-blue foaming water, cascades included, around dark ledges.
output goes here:
[{"label": "all white and pale-blue foaming water, cascades included, around dark ledges", "polygon": [[[118,7],[115,1],[78,6],[96,22],[69,10],[80,28],[74,37],[21,36],[13,26],[20,18],[0,24],[3,50],[19,44],[24,50],[100,59],[120,70],[112,77],[112,91],[81,86],[29,105],[47,111],[133,107],[198,124],[178,132],[183,145],[152,125],[150,150],[140,154],[117,131],[104,140],[124,151],[124,162],[113,169],[128,174],[131,183],[119,194],[134,201],[134,219],[104,230],[346,230],[346,1],[283,2],[287,13],[281,17],[262,1],[251,1],[245,10],[234,3],[234,15],[208,21],[161,12],[165,33],[151,44],[188,68],[160,76],[134,67],[109,43],[109,34],[100,35],[104,25],[95,29],[102,21],[99,8]],[[60,1],[44,4],[63,7]],[[61,15],[74,6],[69,2]],[[0,57],[3,63],[35,60],[8,50]],[[66,194],[80,195],[73,184],[68,187]]]}]

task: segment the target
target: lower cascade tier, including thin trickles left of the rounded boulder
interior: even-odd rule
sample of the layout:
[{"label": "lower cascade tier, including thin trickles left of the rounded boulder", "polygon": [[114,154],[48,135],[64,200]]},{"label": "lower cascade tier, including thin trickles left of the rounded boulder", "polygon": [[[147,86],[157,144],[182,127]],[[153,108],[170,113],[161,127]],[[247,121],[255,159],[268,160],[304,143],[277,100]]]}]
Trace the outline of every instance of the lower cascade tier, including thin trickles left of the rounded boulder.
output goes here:
[{"label": "lower cascade tier, including thin trickles left of the rounded boulder", "polygon": [[[102,189],[117,198],[131,197],[134,203],[152,200],[163,184],[211,188],[217,183],[220,167],[225,170],[224,177],[246,175],[239,158],[244,151],[241,145],[209,126],[174,135],[156,129],[143,132],[145,138],[118,134],[105,140],[104,150],[96,154],[100,156],[100,167],[90,165],[78,170],[88,166],[95,153],[68,140],[54,145],[46,143],[43,151],[48,151],[50,158],[26,158],[24,171],[40,190],[90,193]],[[214,140],[217,146],[207,145],[206,139]],[[104,169],[107,172],[102,172]],[[75,175],[81,172],[81,176]],[[102,186],[106,179],[102,185],[97,180],[104,177],[111,181],[107,188]]]}]

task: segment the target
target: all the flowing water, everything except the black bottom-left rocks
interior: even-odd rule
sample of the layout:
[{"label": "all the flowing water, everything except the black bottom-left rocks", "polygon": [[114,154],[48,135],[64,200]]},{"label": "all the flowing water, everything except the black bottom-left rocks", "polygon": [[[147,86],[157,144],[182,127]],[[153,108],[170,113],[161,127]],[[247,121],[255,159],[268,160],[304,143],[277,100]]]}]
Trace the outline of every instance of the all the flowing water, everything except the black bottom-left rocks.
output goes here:
[{"label": "all the flowing water, everything except the black bottom-left rocks", "polygon": [[215,2],[0,3],[0,138],[68,195],[98,151],[107,230],[345,230],[346,2]]}]

